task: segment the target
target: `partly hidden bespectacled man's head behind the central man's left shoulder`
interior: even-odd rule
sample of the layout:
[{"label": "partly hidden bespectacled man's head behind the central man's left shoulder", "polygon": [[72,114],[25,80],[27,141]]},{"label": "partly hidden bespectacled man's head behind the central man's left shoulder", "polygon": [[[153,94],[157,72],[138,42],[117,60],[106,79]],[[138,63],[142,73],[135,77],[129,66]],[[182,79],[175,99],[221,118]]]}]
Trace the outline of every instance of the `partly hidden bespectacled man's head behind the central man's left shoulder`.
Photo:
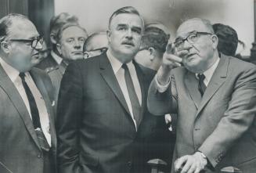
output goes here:
[{"label": "partly hidden bespectacled man's head behind the central man's left shoulder", "polygon": [[107,49],[106,32],[96,32],[91,34],[85,41],[84,58],[99,56]]}]

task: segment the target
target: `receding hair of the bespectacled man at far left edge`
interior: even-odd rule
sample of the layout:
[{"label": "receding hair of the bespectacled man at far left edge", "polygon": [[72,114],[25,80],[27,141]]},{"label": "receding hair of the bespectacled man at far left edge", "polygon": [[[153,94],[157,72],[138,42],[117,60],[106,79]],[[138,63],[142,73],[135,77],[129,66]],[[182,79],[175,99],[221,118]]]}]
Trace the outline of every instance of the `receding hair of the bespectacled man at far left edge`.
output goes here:
[{"label": "receding hair of the bespectacled man at far left edge", "polygon": [[13,20],[28,20],[27,16],[22,14],[10,13],[0,20],[0,41],[3,41],[4,38],[9,33],[9,27],[13,25]]}]

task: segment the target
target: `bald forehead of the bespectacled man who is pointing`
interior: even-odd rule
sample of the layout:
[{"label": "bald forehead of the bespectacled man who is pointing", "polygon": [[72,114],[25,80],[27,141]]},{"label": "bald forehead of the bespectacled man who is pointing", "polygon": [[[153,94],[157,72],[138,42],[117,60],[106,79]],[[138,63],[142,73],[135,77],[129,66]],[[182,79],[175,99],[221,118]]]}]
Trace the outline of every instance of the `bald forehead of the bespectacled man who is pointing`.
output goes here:
[{"label": "bald forehead of the bespectacled man who is pointing", "polygon": [[210,29],[207,28],[207,26],[202,20],[199,20],[199,19],[187,20],[186,22],[182,23],[178,27],[176,38],[185,38],[187,35],[189,35],[193,31],[211,33]]}]

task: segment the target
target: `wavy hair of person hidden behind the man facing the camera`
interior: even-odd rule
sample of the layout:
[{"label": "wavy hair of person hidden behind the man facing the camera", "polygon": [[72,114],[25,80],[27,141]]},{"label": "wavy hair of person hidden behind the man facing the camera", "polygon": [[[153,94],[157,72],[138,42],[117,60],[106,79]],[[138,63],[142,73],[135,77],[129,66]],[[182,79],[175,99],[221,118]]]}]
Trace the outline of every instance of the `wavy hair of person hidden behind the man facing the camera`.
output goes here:
[{"label": "wavy hair of person hidden behind the man facing the camera", "polygon": [[50,21],[50,33],[57,34],[59,29],[66,23],[78,24],[78,17],[72,16],[69,13],[59,13],[59,15],[53,16]]}]

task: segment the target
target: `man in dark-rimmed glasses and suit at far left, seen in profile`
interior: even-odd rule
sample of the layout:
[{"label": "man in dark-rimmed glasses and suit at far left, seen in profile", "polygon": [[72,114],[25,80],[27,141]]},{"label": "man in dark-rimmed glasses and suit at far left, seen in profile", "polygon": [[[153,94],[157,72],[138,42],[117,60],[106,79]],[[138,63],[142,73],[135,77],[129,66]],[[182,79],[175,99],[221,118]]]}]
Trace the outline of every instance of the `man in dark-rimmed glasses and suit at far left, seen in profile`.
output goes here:
[{"label": "man in dark-rimmed glasses and suit at far left, seen in profile", "polygon": [[38,63],[43,39],[26,16],[0,20],[0,172],[55,173],[52,83]]}]

